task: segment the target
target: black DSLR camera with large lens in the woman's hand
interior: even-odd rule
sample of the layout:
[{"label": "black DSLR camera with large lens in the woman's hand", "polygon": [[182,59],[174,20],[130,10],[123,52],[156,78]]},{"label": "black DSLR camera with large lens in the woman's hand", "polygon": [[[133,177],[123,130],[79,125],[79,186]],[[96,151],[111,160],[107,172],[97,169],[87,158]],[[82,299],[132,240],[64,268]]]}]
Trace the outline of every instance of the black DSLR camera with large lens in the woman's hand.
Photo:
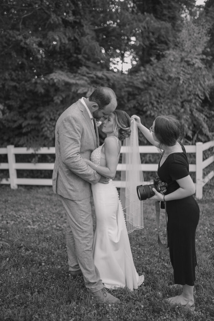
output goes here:
[{"label": "black DSLR camera with large lens in the woman's hand", "polygon": [[157,192],[165,194],[167,191],[167,183],[162,182],[159,177],[156,177],[153,184],[150,185],[139,185],[137,186],[137,195],[140,201],[146,200],[155,195],[152,188],[155,188]]}]

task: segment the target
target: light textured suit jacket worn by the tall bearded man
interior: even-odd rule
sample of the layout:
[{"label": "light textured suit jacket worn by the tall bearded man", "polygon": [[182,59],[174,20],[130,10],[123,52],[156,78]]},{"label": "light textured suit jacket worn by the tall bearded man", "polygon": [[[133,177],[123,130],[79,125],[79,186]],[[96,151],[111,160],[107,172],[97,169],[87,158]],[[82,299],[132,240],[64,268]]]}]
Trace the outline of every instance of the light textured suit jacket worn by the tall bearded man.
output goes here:
[{"label": "light textured suit jacket worn by the tall bearded man", "polygon": [[90,197],[90,184],[96,184],[100,175],[87,166],[82,158],[90,159],[91,152],[98,146],[97,126],[94,129],[88,111],[78,100],[56,122],[54,193],[71,200]]}]

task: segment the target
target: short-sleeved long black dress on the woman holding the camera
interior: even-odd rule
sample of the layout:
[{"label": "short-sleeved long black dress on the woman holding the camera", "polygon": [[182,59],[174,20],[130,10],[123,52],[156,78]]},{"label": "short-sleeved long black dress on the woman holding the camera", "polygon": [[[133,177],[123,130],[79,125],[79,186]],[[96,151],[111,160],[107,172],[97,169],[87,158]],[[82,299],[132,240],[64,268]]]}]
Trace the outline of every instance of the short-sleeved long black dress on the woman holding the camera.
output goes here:
[{"label": "short-sleeved long black dress on the woman holding the camera", "polygon": [[[179,188],[176,179],[189,175],[189,163],[184,146],[183,152],[170,154],[165,162],[158,165],[158,176],[167,182],[167,194]],[[160,164],[160,162],[159,162]],[[169,255],[176,284],[193,286],[195,281],[195,231],[199,221],[199,206],[193,196],[167,201],[167,231]]]}]

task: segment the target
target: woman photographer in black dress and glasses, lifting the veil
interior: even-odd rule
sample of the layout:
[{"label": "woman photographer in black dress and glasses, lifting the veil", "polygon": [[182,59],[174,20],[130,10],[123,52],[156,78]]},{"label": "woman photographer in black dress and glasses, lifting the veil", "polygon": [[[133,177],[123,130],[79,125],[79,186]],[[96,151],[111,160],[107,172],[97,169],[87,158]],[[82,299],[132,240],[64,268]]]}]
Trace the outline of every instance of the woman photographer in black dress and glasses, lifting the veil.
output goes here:
[{"label": "woman photographer in black dress and glasses, lifting the veil", "polygon": [[169,255],[174,282],[183,289],[181,295],[167,301],[194,310],[193,288],[197,265],[195,231],[200,210],[192,196],[195,186],[189,175],[186,151],[179,143],[180,124],[174,116],[158,116],[148,129],[141,124],[140,117],[133,115],[132,118],[146,139],[160,150],[162,157],[158,164],[158,177],[168,185],[165,195],[152,188],[155,195],[149,198],[166,202]]}]

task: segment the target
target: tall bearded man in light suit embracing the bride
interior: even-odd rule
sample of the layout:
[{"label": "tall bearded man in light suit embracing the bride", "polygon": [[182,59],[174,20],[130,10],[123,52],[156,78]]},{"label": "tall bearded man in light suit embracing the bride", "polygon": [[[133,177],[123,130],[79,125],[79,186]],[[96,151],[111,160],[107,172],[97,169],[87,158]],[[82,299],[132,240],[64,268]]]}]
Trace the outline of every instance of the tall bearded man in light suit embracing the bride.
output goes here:
[{"label": "tall bearded man in light suit embracing the bride", "polygon": [[75,278],[83,275],[90,296],[101,301],[120,301],[108,293],[92,256],[93,223],[90,184],[107,183],[83,160],[99,146],[96,121],[112,113],[117,106],[115,92],[98,87],[90,97],[82,97],[59,117],[56,123],[56,160],[53,171],[53,191],[60,195],[67,213],[66,243],[69,271]]}]

